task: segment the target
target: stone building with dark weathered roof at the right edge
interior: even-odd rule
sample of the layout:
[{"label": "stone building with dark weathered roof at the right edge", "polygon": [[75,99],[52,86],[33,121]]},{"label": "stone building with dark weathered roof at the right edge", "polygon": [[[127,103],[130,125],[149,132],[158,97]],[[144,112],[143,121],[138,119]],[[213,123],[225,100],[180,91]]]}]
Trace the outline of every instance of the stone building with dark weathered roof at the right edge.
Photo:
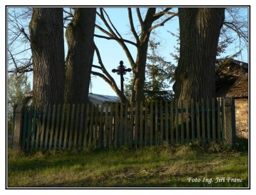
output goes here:
[{"label": "stone building with dark weathered roof at the right edge", "polygon": [[216,97],[234,98],[236,134],[248,138],[248,63],[230,60],[216,74]]}]

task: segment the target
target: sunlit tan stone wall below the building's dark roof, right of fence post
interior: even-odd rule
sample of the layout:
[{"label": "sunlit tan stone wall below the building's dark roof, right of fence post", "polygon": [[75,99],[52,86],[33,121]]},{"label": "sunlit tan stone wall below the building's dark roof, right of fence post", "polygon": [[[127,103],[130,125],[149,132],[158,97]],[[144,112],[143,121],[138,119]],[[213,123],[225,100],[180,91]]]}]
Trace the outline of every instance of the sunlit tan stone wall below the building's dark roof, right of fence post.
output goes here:
[{"label": "sunlit tan stone wall below the building's dark roof, right of fence post", "polygon": [[248,139],[248,99],[234,100],[236,107],[236,135]]}]

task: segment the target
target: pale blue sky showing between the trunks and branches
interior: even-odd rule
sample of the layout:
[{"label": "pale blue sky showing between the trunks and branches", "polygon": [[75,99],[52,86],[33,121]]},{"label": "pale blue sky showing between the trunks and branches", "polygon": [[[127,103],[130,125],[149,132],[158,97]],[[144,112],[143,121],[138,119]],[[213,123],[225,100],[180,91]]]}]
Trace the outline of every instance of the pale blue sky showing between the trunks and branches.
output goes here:
[{"label": "pale blue sky showing between the trunks and branches", "polygon": [[[158,10],[159,11],[159,10]],[[173,11],[177,11],[177,9],[174,9]],[[106,12],[110,16],[110,19],[114,26],[117,28],[117,30],[120,32],[123,38],[129,39],[131,41],[134,41],[134,37],[129,30],[129,21],[128,21],[128,10],[127,8],[106,8]],[[146,9],[141,8],[142,17],[145,15]],[[135,9],[132,9],[133,18],[134,18],[134,26],[135,29],[140,29],[138,18],[136,17]],[[244,10],[244,15],[247,16],[247,9]],[[167,16],[164,16],[167,17]],[[29,23],[29,19],[24,20],[24,28],[27,28],[27,25]],[[156,23],[158,23],[156,21]],[[101,27],[104,27],[103,22],[99,19],[99,17],[96,17],[96,24],[99,24]],[[106,27],[104,27],[107,29]],[[174,34],[178,34],[178,17],[174,17],[173,19],[167,21],[167,23],[164,24],[163,27],[157,27],[155,30],[153,30],[150,37],[154,37],[157,41],[161,42],[161,46],[159,47],[160,55],[162,55],[167,61],[176,63],[171,57],[170,53],[174,52],[174,46],[177,46],[177,38],[173,37],[173,35],[170,34],[170,32],[173,32]],[[28,32],[28,30],[27,30]],[[64,32],[65,33],[65,32]],[[102,32],[95,29],[95,34],[104,35]],[[113,68],[117,68],[119,65],[120,60],[124,62],[124,66],[129,66],[127,56],[125,55],[124,51],[122,50],[121,46],[115,41],[115,40],[107,40],[103,38],[97,38],[94,37],[94,42],[97,45],[97,48],[100,50],[101,59],[103,61],[104,66],[106,67],[107,71],[111,74],[111,76],[114,78],[115,82],[117,83],[118,87],[120,87],[120,76],[116,73],[112,73],[111,70]],[[230,54],[233,54],[238,51],[237,46],[239,42],[236,41],[234,44],[230,45],[229,48],[227,48],[227,52],[223,54],[223,56],[227,56]],[[127,44],[134,60],[136,59],[136,48],[133,45]],[[23,47],[26,47],[26,45],[18,45],[17,48],[23,49]],[[66,42],[65,42],[65,53],[68,50]],[[244,49],[243,53],[237,57],[237,60],[242,60],[244,62],[248,62],[248,50]],[[30,55],[30,51],[27,52],[26,55]],[[97,56],[94,54],[93,59],[94,65],[99,65]],[[95,68],[93,68],[93,71],[99,71]],[[29,73],[30,82],[32,82],[32,74]],[[125,75],[126,81],[131,78],[131,74]],[[31,85],[32,86],[32,85]],[[171,86],[170,86],[171,88]],[[92,87],[90,88],[90,91],[92,93],[97,93],[101,95],[113,95],[116,96],[115,92],[111,87],[100,77],[95,77],[92,75]]]}]

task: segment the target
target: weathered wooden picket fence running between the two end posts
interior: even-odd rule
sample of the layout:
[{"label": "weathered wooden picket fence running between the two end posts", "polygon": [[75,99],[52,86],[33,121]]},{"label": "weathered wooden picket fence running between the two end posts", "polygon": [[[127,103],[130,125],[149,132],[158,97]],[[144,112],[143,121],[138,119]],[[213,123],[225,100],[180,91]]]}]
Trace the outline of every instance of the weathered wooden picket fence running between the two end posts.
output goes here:
[{"label": "weathered wooden picket fence running between the two end posts", "polygon": [[223,99],[178,106],[177,102],[106,103],[24,107],[24,151],[80,150],[86,147],[141,147],[191,142],[222,142]]}]

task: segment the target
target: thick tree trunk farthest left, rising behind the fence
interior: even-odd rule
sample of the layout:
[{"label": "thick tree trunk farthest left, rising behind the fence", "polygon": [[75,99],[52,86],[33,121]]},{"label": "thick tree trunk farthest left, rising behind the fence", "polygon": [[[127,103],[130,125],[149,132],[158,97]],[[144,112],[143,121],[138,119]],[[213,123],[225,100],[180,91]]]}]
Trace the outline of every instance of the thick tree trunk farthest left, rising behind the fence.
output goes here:
[{"label": "thick tree trunk farthest left, rising behind the fence", "polygon": [[33,8],[29,24],[33,56],[33,104],[63,103],[64,31],[62,8]]}]

